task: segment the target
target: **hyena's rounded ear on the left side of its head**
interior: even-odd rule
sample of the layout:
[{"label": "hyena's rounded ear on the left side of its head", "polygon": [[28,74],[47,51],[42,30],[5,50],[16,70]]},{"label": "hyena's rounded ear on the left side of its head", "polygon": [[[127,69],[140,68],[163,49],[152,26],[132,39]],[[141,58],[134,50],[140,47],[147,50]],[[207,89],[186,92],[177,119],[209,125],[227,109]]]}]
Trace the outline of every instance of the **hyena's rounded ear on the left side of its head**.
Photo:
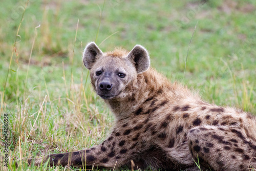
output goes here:
[{"label": "hyena's rounded ear on the left side of its head", "polygon": [[102,51],[97,47],[95,42],[89,42],[82,55],[83,65],[90,70],[94,62],[97,60],[97,57],[101,56],[102,54]]}]

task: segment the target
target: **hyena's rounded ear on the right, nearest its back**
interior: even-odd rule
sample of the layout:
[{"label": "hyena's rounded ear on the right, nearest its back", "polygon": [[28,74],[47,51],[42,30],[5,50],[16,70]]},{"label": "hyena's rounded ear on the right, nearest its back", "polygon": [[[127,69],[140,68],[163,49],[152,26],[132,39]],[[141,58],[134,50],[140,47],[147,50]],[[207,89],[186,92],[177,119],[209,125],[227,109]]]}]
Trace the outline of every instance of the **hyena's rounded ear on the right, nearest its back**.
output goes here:
[{"label": "hyena's rounded ear on the right, nearest its back", "polygon": [[140,45],[136,45],[127,58],[135,63],[137,73],[144,72],[150,67],[150,56],[146,49]]}]

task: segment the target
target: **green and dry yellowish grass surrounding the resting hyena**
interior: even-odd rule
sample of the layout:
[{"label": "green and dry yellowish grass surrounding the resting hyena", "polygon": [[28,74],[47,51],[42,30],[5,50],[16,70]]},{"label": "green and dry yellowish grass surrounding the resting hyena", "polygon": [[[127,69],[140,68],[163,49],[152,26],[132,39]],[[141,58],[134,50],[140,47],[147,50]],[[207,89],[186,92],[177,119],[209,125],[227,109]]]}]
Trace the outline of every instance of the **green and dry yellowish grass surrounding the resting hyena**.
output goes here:
[{"label": "green and dry yellowish grass surrounding the resting hyena", "polygon": [[[10,158],[72,152],[104,140],[114,118],[81,61],[89,41],[103,41],[102,51],[143,45],[152,66],[171,81],[200,90],[206,101],[256,113],[255,1],[33,0],[24,13],[26,3],[0,7],[0,137],[8,114]],[[64,169],[37,169],[46,168]]]}]

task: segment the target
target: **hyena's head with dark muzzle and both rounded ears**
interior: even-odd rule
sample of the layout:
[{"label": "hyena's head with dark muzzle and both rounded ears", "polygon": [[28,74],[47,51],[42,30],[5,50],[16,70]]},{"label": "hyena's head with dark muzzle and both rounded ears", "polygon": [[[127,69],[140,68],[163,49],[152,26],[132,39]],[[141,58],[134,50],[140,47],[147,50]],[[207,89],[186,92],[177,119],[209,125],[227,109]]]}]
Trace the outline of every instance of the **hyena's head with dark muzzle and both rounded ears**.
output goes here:
[{"label": "hyena's head with dark muzzle and both rounded ears", "polygon": [[96,93],[103,99],[115,99],[126,96],[126,88],[150,66],[150,57],[139,45],[131,52],[118,49],[103,53],[90,42],[83,52],[83,64],[90,70]]}]

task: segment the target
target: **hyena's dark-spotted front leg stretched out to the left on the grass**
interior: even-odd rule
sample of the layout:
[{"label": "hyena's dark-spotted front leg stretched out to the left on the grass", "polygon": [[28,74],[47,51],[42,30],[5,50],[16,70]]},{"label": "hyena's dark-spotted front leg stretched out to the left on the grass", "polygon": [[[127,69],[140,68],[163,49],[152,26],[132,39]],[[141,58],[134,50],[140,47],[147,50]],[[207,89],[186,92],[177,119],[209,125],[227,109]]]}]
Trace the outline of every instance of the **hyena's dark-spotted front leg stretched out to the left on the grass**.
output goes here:
[{"label": "hyena's dark-spotted front leg stretched out to the left on the grass", "polygon": [[[115,130],[115,129],[114,129]],[[117,129],[116,129],[117,130]],[[120,128],[119,128],[120,130]],[[51,154],[41,158],[29,159],[29,164],[40,165],[49,161],[50,165],[69,165],[74,167],[102,166],[118,168],[136,159],[137,155],[147,148],[142,145],[139,134],[130,134],[133,130],[126,129],[121,132],[112,132],[100,145],[92,148],[64,154]]]}]

